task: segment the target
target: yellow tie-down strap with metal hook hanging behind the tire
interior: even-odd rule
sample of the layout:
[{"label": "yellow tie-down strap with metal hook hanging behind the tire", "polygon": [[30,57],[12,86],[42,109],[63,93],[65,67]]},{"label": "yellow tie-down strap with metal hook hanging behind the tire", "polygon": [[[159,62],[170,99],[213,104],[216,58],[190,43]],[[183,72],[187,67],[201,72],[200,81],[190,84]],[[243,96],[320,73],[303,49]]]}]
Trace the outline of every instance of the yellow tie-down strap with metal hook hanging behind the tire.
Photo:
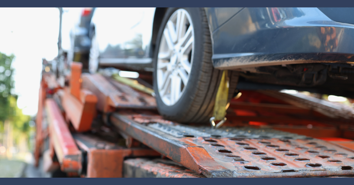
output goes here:
[{"label": "yellow tie-down strap with metal hook hanging behind the tire", "polygon": [[225,118],[227,99],[229,95],[229,79],[227,70],[223,70],[218,92],[216,93],[213,117],[215,121],[220,121]]}]

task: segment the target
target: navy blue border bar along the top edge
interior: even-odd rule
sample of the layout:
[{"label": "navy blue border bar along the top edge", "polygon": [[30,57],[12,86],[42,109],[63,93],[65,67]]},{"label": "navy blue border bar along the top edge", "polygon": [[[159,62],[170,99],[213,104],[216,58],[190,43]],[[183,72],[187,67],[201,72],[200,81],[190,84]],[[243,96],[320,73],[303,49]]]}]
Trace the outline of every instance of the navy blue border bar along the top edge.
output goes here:
[{"label": "navy blue border bar along the top edge", "polygon": [[353,0],[2,0],[0,7],[354,7]]}]

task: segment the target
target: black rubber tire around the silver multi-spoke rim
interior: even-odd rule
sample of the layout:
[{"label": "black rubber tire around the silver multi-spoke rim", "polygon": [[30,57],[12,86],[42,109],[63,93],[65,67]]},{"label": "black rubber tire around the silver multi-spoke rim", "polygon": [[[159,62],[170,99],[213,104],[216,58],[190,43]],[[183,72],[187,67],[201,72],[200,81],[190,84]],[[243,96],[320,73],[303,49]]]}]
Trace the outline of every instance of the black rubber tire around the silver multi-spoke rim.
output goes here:
[{"label": "black rubber tire around the silver multi-spoke rim", "polygon": [[[158,32],[157,40],[156,40],[156,47],[155,47],[154,58],[153,58],[153,65],[154,65],[153,85],[156,94],[156,103],[157,103],[158,111],[162,116],[164,116],[165,119],[169,119],[171,121],[176,121],[180,123],[207,122],[209,118],[212,117],[213,107],[215,103],[215,96],[219,86],[219,82],[221,80],[222,71],[214,69],[212,66],[211,37],[210,37],[209,25],[207,23],[206,14],[203,8],[182,8],[182,11],[187,11],[189,13],[189,17],[192,20],[192,24],[190,25],[193,25],[193,30],[194,30],[194,48],[192,47],[192,50],[194,51],[192,52],[193,57],[189,57],[191,68],[190,68],[190,73],[188,74],[189,78],[188,78],[187,85],[183,87],[183,90],[179,98],[175,102],[173,102],[173,104],[172,103],[169,104],[166,101],[166,97],[168,97],[168,94],[166,95],[167,90],[163,90],[161,88],[163,85],[158,84],[159,83],[158,81],[161,79],[161,76],[164,76],[161,75],[163,74],[163,72],[159,72],[159,70],[161,70],[162,68],[159,66],[158,69],[158,63],[159,64],[164,63],[162,62],[164,59],[161,59],[162,57],[159,58],[159,53],[162,53],[160,49],[164,47],[164,43],[163,43],[164,39],[167,40],[166,36],[164,36],[164,38],[162,38],[162,36],[163,34],[166,34],[164,33],[164,30],[167,21],[169,21],[170,18],[171,18],[170,20],[173,20],[172,17],[174,13],[177,12],[177,10],[181,10],[181,8],[169,8],[166,11],[166,14],[162,20]],[[176,25],[177,25],[177,21],[176,21]],[[170,63],[172,60],[171,58],[170,58]],[[178,63],[178,61],[176,63]],[[166,67],[166,72],[167,69],[168,68]],[[160,73],[160,75],[158,73]],[[171,74],[173,74],[173,72],[171,72]],[[236,76],[235,72],[231,72],[228,74],[230,76],[230,80],[233,81],[237,80],[235,78],[238,78],[238,76]],[[172,80],[170,84],[172,84]],[[236,83],[235,82],[230,83],[229,94],[233,94],[235,88],[236,88]],[[170,89],[171,91],[169,92],[172,92],[172,88]],[[170,93],[170,97],[172,97],[172,93]],[[232,97],[229,96],[229,99],[230,98]]]}]

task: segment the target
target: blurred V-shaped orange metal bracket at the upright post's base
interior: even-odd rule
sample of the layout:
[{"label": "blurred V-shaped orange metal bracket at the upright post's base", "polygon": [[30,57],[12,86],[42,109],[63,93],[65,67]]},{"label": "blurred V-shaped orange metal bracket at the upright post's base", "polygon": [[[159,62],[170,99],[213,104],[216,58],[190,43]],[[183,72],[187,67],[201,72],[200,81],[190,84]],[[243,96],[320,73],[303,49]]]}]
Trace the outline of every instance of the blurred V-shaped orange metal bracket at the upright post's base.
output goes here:
[{"label": "blurred V-shaped orange metal bracket at the upright post's base", "polygon": [[96,96],[88,90],[80,90],[80,98],[76,99],[68,88],[64,88],[61,105],[76,131],[90,130],[92,119],[96,116],[96,103]]}]

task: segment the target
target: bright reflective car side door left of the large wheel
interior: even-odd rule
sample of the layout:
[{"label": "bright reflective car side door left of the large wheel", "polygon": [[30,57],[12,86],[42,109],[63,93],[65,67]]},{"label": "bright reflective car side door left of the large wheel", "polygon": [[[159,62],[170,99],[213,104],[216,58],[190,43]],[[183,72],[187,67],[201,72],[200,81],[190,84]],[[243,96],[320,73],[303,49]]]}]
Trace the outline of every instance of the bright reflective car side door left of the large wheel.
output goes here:
[{"label": "bright reflective car side door left of the large wheel", "polygon": [[155,8],[97,8],[91,24],[101,66],[149,64]]}]

